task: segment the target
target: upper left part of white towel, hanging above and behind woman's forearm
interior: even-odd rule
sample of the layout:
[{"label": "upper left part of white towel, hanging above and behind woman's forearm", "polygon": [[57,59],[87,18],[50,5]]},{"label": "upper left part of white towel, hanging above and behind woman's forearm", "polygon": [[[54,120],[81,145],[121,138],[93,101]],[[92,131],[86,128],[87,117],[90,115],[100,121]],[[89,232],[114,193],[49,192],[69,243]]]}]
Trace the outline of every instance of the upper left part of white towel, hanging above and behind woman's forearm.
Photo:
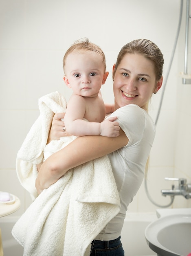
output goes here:
[{"label": "upper left part of white towel, hanging above and behind woman's forearm", "polygon": [[53,116],[57,112],[66,111],[66,100],[59,92],[52,92],[39,99],[40,115],[29,130],[16,159],[16,171],[22,186],[29,191],[32,200],[37,197],[35,180],[37,164],[42,162],[43,150]]}]

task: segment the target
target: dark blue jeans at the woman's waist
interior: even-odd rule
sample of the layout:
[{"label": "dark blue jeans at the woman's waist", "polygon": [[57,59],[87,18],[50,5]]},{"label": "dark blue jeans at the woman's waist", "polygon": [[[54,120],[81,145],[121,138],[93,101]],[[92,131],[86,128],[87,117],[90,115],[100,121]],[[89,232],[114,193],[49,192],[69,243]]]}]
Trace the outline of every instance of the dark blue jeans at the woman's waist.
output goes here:
[{"label": "dark blue jeans at the woman's waist", "polygon": [[120,238],[110,241],[93,240],[90,256],[124,256]]}]

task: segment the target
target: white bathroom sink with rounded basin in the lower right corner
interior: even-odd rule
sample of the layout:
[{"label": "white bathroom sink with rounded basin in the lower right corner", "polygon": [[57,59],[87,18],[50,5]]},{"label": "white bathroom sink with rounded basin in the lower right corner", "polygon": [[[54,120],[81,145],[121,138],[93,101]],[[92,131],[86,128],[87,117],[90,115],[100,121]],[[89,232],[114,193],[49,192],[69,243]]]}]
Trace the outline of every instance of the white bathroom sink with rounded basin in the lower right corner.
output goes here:
[{"label": "white bathroom sink with rounded basin in the lower right corner", "polygon": [[187,256],[191,253],[191,209],[161,212],[145,229],[147,244],[158,256]]}]

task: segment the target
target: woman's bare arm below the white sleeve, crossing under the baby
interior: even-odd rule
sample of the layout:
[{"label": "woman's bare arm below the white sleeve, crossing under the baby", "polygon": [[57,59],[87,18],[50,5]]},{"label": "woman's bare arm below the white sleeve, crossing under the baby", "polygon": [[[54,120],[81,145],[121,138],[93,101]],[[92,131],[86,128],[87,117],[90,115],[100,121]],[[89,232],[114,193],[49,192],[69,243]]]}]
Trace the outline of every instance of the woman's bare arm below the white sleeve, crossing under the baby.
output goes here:
[{"label": "woman's bare arm below the white sleeve, crossing under the baby", "polygon": [[128,141],[127,136],[121,129],[118,137],[100,135],[78,137],[65,148],[48,157],[42,164],[35,185],[38,193],[59,180],[69,169],[92,159],[108,155],[126,146]]}]

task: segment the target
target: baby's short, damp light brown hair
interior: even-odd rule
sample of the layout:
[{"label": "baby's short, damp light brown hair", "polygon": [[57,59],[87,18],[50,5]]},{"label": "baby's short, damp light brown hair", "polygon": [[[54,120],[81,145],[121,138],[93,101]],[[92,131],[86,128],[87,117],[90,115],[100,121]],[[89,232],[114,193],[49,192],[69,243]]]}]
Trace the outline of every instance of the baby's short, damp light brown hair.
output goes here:
[{"label": "baby's short, damp light brown hair", "polygon": [[88,38],[81,38],[77,41],[75,41],[70,48],[66,51],[64,58],[63,58],[63,68],[65,69],[66,65],[66,58],[68,55],[73,52],[74,50],[79,50],[79,51],[91,51],[91,52],[97,52],[102,56],[102,61],[104,68],[106,70],[106,61],[105,61],[105,54],[102,51],[102,49],[98,46],[95,45],[94,43],[91,43]]}]

